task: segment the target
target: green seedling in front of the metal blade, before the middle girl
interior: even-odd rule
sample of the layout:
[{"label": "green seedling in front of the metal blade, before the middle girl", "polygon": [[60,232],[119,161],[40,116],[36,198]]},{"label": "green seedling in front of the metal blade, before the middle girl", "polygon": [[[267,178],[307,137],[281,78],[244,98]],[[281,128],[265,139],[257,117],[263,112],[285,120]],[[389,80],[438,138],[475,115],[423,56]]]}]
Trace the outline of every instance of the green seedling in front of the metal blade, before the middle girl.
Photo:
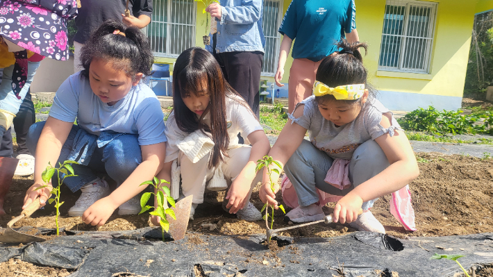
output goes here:
[{"label": "green seedling in front of the metal blade, before the middle girl", "polygon": [[[174,210],[172,208],[167,208],[169,205],[172,205],[173,208],[175,208],[175,203],[174,199],[171,195],[171,192],[169,191],[169,188],[165,185],[162,185],[164,183],[169,184],[168,181],[161,179],[159,180],[158,178],[154,177],[152,181],[145,181],[144,183],[140,185],[152,185],[156,191],[157,194],[153,192],[145,192],[142,194],[142,197],[140,197],[140,207],[142,210],[140,210],[139,215],[142,214],[142,212],[146,212],[150,208],[154,208],[152,212],[149,212],[149,215],[156,215],[160,217],[159,224],[161,226],[161,231],[162,231],[162,241],[165,241],[165,231],[167,232],[169,230],[169,221],[166,219],[166,215],[169,215],[172,217],[174,220],[176,220],[176,216],[174,215]],[[156,196],[157,199],[157,206],[153,207],[151,205],[147,205],[147,201],[151,198],[151,194]],[[166,203],[166,208],[165,208],[165,203]]]}]

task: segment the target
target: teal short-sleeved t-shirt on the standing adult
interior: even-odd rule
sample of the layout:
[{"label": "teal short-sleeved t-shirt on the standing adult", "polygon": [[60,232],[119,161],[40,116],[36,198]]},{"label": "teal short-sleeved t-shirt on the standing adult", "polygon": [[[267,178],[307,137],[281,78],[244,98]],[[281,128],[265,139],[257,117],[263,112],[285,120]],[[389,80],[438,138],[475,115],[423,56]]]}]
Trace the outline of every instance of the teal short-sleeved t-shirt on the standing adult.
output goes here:
[{"label": "teal short-sleeved t-shirt on the standing adult", "polygon": [[337,51],[335,42],[356,29],[353,0],[292,0],[279,33],[294,40],[293,58],[318,62]]}]

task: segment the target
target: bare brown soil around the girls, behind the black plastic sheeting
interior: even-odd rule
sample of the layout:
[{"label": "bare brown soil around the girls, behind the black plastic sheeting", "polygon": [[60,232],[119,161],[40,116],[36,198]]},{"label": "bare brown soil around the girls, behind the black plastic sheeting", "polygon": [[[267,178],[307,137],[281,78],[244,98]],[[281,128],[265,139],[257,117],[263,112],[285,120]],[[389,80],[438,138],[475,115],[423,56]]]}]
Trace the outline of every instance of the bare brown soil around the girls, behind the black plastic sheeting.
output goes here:
[{"label": "bare brown soil around the girls, behind the black plastic sheeting", "polygon": [[[372,212],[385,226],[387,233],[396,237],[425,237],[493,232],[493,159],[482,160],[459,155],[446,156],[441,153],[418,153],[417,156],[421,158],[419,160],[426,161],[419,163],[419,177],[410,184],[418,230],[416,232],[404,230],[390,214],[390,196],[384,196],[376,201]],[[0,217],[1,226],[6,226],[12,217],[19,215],[24,193],[31,183],[32,176],[15,178],[6,197],[5,208],[8,215]],[[96,230],[93,226],[84,224],[80,217],[67,217],[67,210],[74,204],[79,194],[80,192],[73,194],[65,187],[62,189],[61,196],[65,204],[60,208],[62,215],[60,227],[65,227],[67,230]],[[243,221],[224,212],[220,205],[223,197],[224,193],[222,192],[209,193],[206,197],[206,203],[197,208],[195,220],[190,221],[188,230],[211,235],[240,235],[244,237],[265,233],[265,221]],[[281,199],[281,195],[278,195],[277,199]],[[262,208],[262,203],[258,199],[258,187],[253,192],[252,201],[257,208]],[[330,204],[324,207],[327,214],[331,210]],[[274,228],[285,226],[283,216],[281,211],[275,212]],[[212,224],[215,224],[215,228],[210,228],[213,226]],[[54,228],[53,205],[47,205],[44,210],[35,212],[32,218],[19,221],[15,227],[19,226]],[[149,215],[118,216],[115,212],[99,230],[131,230],[145,226],[149,226]],[[353,231],[347,225],[317,224],[287,230],[279,235],[335,237]],[[189,239],[192,244],[207,243],[194,235]],[[16,265],[19,268],[14,268]],[[21,266],[23,265],[19,261],[15,265],[12,265],[12,260],[3,262],[0,264],[0,271],[33,272],[22,269]],[[22,275],[19,274],[18,276]]]}]

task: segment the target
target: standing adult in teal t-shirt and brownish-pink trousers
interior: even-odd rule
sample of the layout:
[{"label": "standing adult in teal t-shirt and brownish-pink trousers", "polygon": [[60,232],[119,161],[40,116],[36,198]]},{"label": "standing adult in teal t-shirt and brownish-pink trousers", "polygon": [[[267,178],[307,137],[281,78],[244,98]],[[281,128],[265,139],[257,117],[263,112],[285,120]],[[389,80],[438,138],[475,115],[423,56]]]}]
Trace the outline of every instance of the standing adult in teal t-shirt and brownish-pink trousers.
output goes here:
[{"label": "standing adult in teal t-shirt and brownish-pink trousers", "polygon": [[344,35],[346,40],[358,42],[356,31],[356,5],[354,0],[292,0],[279,27],[283,37],[277,72],[276,85],[281,83],[287,54],[293,40],[294,58],[288,81],[288,112],[293,112],[296,103],[312,95],[312,87],[320,62],[337,49]]}]

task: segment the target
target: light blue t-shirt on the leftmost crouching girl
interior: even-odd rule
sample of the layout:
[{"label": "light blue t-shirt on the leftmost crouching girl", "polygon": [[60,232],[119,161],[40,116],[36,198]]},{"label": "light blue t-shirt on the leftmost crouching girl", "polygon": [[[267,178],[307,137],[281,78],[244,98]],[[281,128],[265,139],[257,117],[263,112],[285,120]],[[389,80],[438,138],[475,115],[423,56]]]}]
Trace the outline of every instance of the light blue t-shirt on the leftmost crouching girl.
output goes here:
[{"label": "light blue t-shirt on the leftmost crouching girl", "polygon": [[74,122],[77,118],[78,126],[94,135],[102,131],[139,135],[140,145],[166,141],[159,100],[142,82],[115,105],[108,106],[92,92],[87,78],[78,72],[58,88],[49,116],[65,122]]}]

